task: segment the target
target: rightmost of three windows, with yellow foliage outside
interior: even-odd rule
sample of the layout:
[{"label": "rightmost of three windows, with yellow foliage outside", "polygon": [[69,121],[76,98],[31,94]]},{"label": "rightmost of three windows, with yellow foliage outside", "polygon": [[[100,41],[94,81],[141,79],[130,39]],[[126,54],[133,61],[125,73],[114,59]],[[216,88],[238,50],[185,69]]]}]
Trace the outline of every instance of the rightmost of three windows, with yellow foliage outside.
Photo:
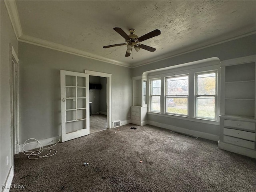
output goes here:
[{"label": "rightmost of three windows, with yellow foliage outside", "polygon": [[216,120],[216,73],[196,74],[196,115],[197,118]]}]

